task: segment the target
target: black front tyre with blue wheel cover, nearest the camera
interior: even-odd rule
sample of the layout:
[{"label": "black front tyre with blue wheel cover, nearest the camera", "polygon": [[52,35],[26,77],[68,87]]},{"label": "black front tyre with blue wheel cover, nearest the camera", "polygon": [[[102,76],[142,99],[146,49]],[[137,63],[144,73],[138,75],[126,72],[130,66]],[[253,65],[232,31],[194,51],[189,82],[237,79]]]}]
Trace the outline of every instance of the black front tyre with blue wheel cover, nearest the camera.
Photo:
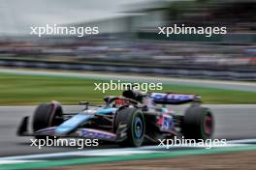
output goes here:
[{"label": "black front tyre with blue wheel cover, nearest the camera", "polygon": [[138,108],[123,108],[117,111],[114,120],[114,129],[118,128],[118,125],[127,126],[127,138],[120,142],[122,147],[140,147],[144,142],[144,114],[141,109]]}]

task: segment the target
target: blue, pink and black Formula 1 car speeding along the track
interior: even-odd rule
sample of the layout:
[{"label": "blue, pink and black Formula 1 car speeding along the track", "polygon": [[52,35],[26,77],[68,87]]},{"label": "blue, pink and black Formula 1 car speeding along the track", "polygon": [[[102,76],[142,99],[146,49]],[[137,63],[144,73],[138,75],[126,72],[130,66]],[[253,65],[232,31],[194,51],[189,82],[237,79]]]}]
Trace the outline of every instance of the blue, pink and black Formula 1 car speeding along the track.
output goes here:
[{"label": "blue, pink and black Formula 1 car speeding along the track", "polygon": [[[196,95],[143,94],[126,90],[122,96],[110,96],[104,100],[104,105],[81,101],[85,108],[80,113],[63,113],[57,101],[41,104],[34,113],[31,130],[28,130],[29,117],[24,117],[17,135],[37,139],[47,136],[90,138],[139,147],[175,136],[206,140],[213,134],[213,115],[208,108],[201,107],[201,99]],[[187,102],[192,104],[183,115],[166,106]]]}]

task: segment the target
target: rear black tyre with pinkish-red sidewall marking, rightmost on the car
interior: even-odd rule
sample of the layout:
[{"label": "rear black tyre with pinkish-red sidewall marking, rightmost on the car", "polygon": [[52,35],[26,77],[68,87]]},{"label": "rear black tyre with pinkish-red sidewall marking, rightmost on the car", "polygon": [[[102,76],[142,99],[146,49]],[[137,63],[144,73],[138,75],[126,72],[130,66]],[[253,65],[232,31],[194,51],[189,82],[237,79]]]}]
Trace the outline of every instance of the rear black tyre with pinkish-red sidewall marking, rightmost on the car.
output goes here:
[{"label": "rear black tyre with pinkish-red sidewall marking, rightmost on the car", "polygon": [[186,139],[207,140],[214,132],[214,118],[206,107],[189,107],[183,117],[182,132]]}]

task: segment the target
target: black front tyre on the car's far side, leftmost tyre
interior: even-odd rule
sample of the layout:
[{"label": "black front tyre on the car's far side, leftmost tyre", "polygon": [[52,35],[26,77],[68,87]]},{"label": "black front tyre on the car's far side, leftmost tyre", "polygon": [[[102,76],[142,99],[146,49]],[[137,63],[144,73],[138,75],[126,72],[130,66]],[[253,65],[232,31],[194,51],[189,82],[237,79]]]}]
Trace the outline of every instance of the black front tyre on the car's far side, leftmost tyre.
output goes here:
[{"label": "black front tyre on the car's far side, leftmost tyre", "polygon": [[[63,122],[62,114],[62,107],[59,103],[50,102],[39,105],[33,116],[33,131],[60,125]],[[36,136],[36,138],[46,138],[46,136]]]}]

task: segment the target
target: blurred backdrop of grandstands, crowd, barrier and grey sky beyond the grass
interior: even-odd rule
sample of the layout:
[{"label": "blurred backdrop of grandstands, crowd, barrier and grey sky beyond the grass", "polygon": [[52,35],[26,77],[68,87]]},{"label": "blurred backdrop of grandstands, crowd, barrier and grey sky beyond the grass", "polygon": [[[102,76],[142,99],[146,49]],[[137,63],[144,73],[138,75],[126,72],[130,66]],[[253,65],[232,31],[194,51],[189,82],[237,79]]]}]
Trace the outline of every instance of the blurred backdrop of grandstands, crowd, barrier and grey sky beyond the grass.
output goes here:
[{"label": "blurred backdrop of grandstands, crowd, barrier and grey sky beyond the grass", "polygon": [[[0,66],[256,80],[255,13],[248,0],[1,0]],[[157,34],[182,23],[228,34]],[[46,24],[98,26],[100,34],[29,34]]]}]

